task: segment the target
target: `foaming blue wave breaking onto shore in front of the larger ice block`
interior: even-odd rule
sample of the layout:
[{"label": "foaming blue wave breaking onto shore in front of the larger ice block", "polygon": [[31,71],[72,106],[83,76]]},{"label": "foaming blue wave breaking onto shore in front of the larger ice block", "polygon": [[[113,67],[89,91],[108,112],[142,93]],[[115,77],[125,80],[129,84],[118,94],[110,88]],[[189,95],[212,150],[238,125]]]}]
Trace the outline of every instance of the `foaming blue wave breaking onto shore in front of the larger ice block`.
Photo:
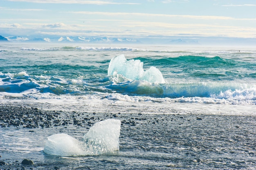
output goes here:
[{"label": "foaming blue wave breaking onto shore in front of the larger ice block", "polygon": [[[245,83],[149,83],[109,76],[85,82],[53,76],[31,76],[26,72],[0,72],[0,96],[90,96],[124,101],[188,102],[256,105],[256,85]],[[63,97],[64,97],[63,96]],[[65,98],[65,97],[64,97]]]}]

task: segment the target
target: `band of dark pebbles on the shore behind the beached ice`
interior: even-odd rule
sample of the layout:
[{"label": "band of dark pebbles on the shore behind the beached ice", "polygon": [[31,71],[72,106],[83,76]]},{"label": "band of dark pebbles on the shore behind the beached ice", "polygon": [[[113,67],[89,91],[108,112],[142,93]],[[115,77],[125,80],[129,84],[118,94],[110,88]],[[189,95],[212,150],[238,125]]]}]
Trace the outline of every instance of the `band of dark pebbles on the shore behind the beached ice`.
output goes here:
[{"label": "band of dark pebbles on the shore behind the beached ice", "polygon": [[[36,107],[0,106],[0,126],[22,128],[50,128],[52,126],[75,125],[90,128],[94,123],[104,119],[116,119],[118,114],[95,112],[63,112],[40,110]],[[135,118],[132,118],[135,120]],[[139,120],[139,119],[136,119]],[[125,124],[136,125],[135,121],[123,121]]]}]

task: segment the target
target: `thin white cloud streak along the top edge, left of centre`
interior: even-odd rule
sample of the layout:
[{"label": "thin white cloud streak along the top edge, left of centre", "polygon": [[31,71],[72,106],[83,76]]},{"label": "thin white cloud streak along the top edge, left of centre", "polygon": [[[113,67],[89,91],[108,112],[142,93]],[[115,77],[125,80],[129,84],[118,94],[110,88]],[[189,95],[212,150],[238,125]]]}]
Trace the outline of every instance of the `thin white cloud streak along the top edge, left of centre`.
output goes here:
[{"label": "thin white cloud streak along the top edge, left of centre", "polygon": [[113,2],[112,0],[9,0],[13,2],[31,2],[41,4],[140,4],[131,2]]}]

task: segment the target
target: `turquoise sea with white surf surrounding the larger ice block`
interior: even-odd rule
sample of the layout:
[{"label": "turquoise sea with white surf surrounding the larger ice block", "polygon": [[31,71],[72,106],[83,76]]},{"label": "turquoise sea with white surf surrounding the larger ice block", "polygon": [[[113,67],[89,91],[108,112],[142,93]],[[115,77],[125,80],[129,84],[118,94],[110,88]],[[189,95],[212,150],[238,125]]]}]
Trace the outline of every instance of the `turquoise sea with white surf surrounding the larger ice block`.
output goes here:
[{"label": "turquoise sea with white surf surrounding the larger ice block", "polygon": [[[30,97],[35,93],[37,97],[46,93],[75,96],[90,93],[102,98],[118,93],[154,100],[200,97],[202,103],[208,99],[223,103],[225,99],[224,103],[229,104],[256,104],[255,50],[42,46],[1,47],[0,92],[7,92],[4,97],[26,92]],[[165,82],[120,78],[119,74],[108,76],[110,59],[121,54],[127,60],[143,62],[144,70],[152,66],[159,69]]]}]

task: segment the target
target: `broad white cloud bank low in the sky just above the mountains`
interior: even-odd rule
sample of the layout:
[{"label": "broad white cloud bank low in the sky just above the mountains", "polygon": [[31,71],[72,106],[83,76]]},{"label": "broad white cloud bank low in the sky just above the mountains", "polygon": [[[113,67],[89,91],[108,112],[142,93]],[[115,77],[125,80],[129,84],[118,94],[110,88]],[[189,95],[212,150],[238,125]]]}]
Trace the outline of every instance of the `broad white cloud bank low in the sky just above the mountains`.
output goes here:
[{"label": "broad white cloud bank low in the sky just above the mountains", "polygon": [[[99,22],[104,20],[94,20]],[[168,36],[223,36],[255,38],[256,28],[242,26],[225,26],[209,24],[174,24],[166,22],[141,22],[118,20],[110,25],[64,25],[63,23],[23,23],[0,24],[0,31],[10,34],[15,30],[17,35],[59,35],[59,36],[109,36],[109,37],[168,37]],[[11,31],[12,30],[12,31]],[[124,31],[125,30],[125,31]],[[22,33],[22,34],[21,34]]]}]

